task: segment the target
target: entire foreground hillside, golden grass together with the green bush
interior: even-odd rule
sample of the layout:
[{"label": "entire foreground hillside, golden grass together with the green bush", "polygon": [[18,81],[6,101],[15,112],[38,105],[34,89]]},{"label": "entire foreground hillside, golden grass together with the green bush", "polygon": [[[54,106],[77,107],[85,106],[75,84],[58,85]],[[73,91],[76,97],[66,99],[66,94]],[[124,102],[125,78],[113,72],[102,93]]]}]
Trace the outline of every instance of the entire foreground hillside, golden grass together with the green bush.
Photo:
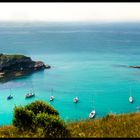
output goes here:
[{"label": "entire foreground hillside, golden grass together with the green bush", "polygon": [[100,119],[66,123],[42,101],[14,108],[13,125],[1,126],[0,137],[140,137],[140,113],[108,114]]}]

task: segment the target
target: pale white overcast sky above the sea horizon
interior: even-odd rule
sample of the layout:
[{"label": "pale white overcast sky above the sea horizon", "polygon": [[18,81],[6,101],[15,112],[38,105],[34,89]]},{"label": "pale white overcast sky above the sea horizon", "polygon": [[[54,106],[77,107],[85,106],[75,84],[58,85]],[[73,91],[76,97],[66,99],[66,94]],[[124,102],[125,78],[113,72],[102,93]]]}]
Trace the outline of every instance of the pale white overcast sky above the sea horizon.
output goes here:
[{"label": "pale white overcast sky above the sea horizon", "polygon": [[0,21],[140,21],[140,3],[0,3]]}]

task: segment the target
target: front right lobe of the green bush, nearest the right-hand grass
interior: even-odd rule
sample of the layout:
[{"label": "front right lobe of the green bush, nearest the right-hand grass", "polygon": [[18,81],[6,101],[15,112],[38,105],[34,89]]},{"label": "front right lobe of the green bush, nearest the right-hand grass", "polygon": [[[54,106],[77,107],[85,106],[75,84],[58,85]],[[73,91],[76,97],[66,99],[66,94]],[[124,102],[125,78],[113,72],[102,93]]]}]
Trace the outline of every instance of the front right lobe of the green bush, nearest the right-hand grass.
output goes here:
[{"label": "front right lobe of the green bush, nearest the right-hand grass", "polygon": [[62,138],[69,137],[70,133],[65,123],[56,115],[39,113],[35,118],[37,133],[42,137]]}]

